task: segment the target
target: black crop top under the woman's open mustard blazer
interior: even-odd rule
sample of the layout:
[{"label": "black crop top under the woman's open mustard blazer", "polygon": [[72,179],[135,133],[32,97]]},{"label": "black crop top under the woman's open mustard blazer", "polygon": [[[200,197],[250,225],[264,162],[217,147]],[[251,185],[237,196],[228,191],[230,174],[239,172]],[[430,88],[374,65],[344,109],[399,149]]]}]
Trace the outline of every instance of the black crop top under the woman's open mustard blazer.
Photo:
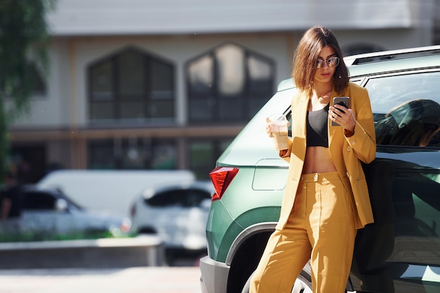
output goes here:
[{"label": "black crop top under the woman's open mustard blazer", "polygon": [[307,111],[307,138],[306,144],[309,146],[322,146],[328,148],[328,108],[318,111]]}]

